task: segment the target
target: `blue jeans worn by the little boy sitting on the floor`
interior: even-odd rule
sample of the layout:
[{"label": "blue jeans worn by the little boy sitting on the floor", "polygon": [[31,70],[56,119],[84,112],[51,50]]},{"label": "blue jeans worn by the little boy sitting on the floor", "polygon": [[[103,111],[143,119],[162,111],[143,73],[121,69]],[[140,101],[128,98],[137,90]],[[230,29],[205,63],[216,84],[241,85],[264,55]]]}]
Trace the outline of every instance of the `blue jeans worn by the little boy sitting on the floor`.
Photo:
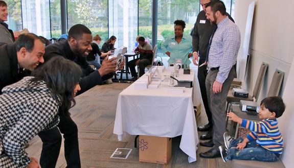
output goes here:
[{"label": "blue jeans worn by the little boy sitting on the floor", "polygon": [[[238,143],[241,143],[243,138],[233,139],[230,142],[228,149],[228,159],[238,159],[238,160],[258,160],[258,161],[266,161],[273,162],[278,160],[278,156],[274,152],[270,152],[269,150],[257,145],[256,140],[252,140],[247,143],[246,147],[242,150],[238,150]],[[278,154],[279,155],[279,154]]]}]

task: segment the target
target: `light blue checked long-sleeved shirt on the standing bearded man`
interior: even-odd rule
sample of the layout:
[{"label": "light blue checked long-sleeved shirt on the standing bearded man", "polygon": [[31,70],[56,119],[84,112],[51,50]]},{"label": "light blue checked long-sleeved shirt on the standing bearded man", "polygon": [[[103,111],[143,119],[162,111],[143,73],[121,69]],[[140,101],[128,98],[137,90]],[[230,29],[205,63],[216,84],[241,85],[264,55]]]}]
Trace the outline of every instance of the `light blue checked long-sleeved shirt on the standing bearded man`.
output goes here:
[{"label": "light blue checked long-sleeved shirt on the standing bearded man", "polygon": [[208,67],[219,67],[216,81],[223,83],[237,61],[241,35],[237,25],[225,17],[215,31],[209,50]]}]

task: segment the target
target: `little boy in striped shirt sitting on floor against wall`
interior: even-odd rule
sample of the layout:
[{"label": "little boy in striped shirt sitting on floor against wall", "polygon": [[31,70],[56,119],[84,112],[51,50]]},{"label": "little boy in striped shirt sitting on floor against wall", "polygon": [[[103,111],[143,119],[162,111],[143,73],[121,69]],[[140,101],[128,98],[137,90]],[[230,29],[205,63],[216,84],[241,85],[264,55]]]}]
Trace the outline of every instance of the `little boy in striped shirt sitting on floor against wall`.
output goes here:
[{"label": "little boy in striped shirt sitting on floor against wall", "polygon": [[247,121],[230,112],[228,117],[238,122],[242,127],[250,129],[251,133],[243,138],[233,139],[228,132],[223,134],[224,146],[219,146],[222,160],[259,160],[277,161],[282,154],[283,138],[278,128],[276,118],[285,110],[285,104],[280,97],[268,97],[261,101],[259,118],[261,122]]}]

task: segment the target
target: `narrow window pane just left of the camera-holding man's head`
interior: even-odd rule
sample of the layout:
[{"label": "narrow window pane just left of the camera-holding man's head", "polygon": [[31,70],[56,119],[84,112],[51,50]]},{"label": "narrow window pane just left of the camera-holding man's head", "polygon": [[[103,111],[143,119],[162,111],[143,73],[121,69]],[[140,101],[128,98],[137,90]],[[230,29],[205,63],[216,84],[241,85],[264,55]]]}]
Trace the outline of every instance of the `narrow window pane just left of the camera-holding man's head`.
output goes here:
[{"label": "narrow window pane just left of the camera-holding man's head", "polygon": [[50,0],[51,37],[59,38],[61,35],[60,1]]}]

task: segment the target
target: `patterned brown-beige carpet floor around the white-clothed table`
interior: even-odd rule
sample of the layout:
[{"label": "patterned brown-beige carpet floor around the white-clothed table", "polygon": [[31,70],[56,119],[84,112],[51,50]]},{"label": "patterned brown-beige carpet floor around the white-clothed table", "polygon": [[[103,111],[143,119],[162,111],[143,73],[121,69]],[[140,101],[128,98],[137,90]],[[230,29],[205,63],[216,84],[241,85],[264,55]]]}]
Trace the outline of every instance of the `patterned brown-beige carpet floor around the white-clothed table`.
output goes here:
[{"label": "patterned brown-beige carpet floor around the white-clothed table", "polygon": [[[128,86],[125,83],[96,86],[76,97],[77,105],[73,107],[71,116],[79,129],[79,148],[82,167],[235,167],[232,162],[223,163],[221,158],[203,159],[199,152],[209,150],[199,147],[197,161],[188,163],[188,156],[179,149],[180,137],[172,139],[172,158],[166,165],[139,162],[139,149],[134,148],[134,135],[127,135],[123,141],[112,134],[116,116],[118,94]],[[207,123],[204,108],[197,124]],[[202,135],[201,132],[198,133]],[[40,157],[41,140],[36,136],[27,152],[30,156]],[[132,149],[127,159],[110,158],[117,148]],[[56,167],[65,167],[63,144]]]}]

